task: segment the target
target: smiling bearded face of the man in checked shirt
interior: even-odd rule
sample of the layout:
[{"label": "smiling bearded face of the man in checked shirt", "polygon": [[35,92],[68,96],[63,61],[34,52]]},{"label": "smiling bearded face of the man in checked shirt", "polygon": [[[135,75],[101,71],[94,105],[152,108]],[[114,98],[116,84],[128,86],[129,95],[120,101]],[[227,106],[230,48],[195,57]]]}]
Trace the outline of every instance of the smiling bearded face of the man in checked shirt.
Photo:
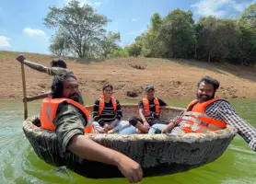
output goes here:
[{"label": "smiling bearded face of the man in checked shirt", "polygon": [[205,102],[215,98],[215,88],[212,84],[202,82],[197,89],[197,99],[199,102]]}]

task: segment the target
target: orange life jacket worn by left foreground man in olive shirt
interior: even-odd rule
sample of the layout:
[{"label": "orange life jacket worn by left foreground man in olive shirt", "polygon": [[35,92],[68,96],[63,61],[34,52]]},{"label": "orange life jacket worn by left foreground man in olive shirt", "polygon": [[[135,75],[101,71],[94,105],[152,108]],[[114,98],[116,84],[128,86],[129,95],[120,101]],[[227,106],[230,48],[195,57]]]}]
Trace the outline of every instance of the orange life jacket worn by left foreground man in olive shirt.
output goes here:
[{"label": "orange life jacket worn by left foreground man in olive shirt", "polygon": [[69,104],[74,105],[77,109],[80,109],[84,115],[87,117],[87,125],[85,126],[85,133],[93,133],[96,132],[93,128],[92,123],[89,123],[89,113],[87,109],[76,101],[69,98],[44,98],[42,99],[41,106],[41,128],[47,129],[50,131],[55,131],[55,125],[53,124],[53,120],[56,117],[56,112],[60,103],[67,101]]}]

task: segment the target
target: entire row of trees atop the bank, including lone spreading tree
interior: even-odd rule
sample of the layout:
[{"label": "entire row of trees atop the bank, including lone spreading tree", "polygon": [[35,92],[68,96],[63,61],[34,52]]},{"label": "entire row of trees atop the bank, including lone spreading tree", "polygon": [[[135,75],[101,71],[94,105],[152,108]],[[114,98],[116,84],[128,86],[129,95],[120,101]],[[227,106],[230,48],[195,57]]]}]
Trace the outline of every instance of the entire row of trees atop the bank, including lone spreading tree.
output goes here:
[{"label": "entire row of trees atop the bank, including lone spreading tree", "polygon": [[256,59],[256,4],[237,18],[200,17],[192,11],[172,10],[166,17],[155,13],[148,29],[134,43],[121,48],[120,33],[107,32],[111,20],[76,0],[64,8],[50,7],[44,24],[56,29],[50,50],[80,58],[138,56],[195,59],[206,62],[254,65]]}]

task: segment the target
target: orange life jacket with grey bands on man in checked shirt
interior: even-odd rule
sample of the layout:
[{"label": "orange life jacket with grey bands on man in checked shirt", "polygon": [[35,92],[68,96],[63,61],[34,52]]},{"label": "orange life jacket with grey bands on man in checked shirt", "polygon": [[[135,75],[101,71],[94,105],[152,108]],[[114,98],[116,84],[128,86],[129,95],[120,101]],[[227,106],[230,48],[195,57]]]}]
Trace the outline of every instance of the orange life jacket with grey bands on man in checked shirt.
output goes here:
[{"label": "orange life jacket with grey bands on man in checked shirt", "polygon": [[208,132],[225,129],[227,127],[225,121],[217,121],[205,113],[206,107],[218,100],[224,99],[214,98],[203,103],[199,103],[197,99],[193,100],[180,121],[183,132]]}]

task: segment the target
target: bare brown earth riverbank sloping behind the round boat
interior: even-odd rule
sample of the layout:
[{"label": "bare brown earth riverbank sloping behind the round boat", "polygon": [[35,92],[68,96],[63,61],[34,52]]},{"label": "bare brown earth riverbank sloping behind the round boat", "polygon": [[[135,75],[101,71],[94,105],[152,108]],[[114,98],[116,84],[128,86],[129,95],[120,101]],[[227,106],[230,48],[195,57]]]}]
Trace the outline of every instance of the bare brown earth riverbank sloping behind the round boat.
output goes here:
[{"label": "bare brown earth riverbank sloping behind the round boat", "polygon": [[[18,52],[0,52],[0,99],[22,98],[20,63]],[[56,56],[37,53],[22,53],[31,62],[49,66]],[[76,74],[82,95],[99,98],[102,86],[111,83],[116,98],[142,98],[144,87],[153,85],[160,98],[192,99],[195,97],[197,81],[210,75],[220,81],[217,95],[222,98],[256,99],[256,69],[229,63],[204,63],[189,60],[167,60],[157,58],[118,58],[86,61],[63,58],[67,67]],[[41,74],[25,66],[28,96],[49,91],[52,76]]]}]

